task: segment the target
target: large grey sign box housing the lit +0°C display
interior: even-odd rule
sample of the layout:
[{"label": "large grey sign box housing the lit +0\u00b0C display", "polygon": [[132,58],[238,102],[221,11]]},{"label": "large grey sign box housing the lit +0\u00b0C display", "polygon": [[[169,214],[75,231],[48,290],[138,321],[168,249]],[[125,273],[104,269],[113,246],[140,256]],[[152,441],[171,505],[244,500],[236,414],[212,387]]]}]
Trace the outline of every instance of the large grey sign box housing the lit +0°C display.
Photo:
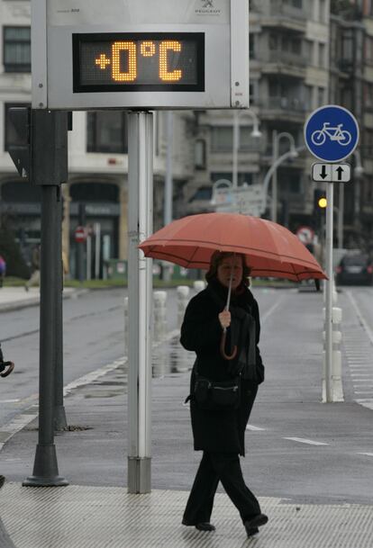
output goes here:
[{"label": "large grey sign box housing the lit +0\u00b0C display", "polygon": [[34,109],[247,107],[247,0],[32,2]]}]

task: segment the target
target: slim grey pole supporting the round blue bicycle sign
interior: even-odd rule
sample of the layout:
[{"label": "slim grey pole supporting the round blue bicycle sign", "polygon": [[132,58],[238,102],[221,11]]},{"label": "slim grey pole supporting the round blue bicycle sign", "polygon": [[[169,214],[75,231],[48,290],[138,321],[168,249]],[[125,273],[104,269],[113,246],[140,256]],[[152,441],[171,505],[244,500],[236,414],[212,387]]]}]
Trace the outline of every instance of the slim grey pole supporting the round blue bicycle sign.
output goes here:
[{"label": "slim grey pole supporting the round blue bicycle sign", "polygon": [[333,401],[332,391],[332,234],[333,234],[333,193],[332,183],[326,187],[326,274],[328,280],[325,281],[325,400],[327,403]]}]

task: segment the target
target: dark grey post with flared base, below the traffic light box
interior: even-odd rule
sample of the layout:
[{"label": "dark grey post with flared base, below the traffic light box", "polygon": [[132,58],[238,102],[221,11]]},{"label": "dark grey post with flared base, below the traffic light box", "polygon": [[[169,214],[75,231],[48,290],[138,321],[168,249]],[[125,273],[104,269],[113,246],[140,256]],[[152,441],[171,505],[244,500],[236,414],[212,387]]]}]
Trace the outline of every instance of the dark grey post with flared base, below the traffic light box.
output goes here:
[{"label": "dark grey post with flared base, below the traffic light box", "polygon": [[[59,229],[56,222],[60,203],[56,185],[41,186],[41,328],[39,380],[39,439],[32,476],[24,486],[50,487],[68,485],[59,476],[54,445],[56,283]],[[59,204],[59,206],[58,206]],[[60,257],[59,257],[60,259]]]}]

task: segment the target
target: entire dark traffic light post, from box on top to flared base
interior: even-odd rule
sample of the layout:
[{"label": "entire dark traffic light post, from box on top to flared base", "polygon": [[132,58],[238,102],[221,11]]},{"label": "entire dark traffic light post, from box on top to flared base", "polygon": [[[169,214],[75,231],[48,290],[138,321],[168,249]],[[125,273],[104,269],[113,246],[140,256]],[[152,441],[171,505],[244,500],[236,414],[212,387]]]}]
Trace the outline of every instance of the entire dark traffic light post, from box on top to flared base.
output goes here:
[{"label": "entire dark traffic light post, from box on top to flared base", "polygon": [[[62,299],[61,273],[61,194],[60,184],[68,179],[67,112],[32,111],[32,155],[30,178],[41,185],[41,311],[39,437],[32,476],[23,481],[28,487],[68,485],[59,476],[54,445],[57,348],[62,344],[59,312]],[[59,309],[61,310],[61,309]],[[60,338],[59,338],[60,337]]]}]

